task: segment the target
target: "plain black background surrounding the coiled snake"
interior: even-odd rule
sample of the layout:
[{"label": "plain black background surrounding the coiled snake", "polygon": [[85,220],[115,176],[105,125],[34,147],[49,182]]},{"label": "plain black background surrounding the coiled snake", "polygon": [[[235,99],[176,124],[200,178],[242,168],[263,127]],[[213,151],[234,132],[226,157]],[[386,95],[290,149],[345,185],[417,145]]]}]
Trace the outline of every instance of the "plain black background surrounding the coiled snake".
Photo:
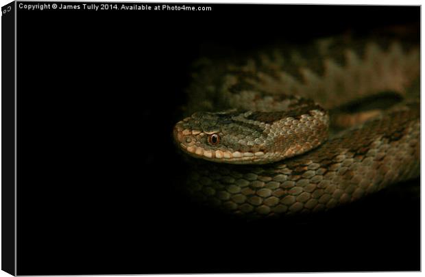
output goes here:
[{"label": "plain black background surrounding the coiled snake", "polygon": [[237,220],[180,193],[187,165],[171,130],[199,56],[418,27],[420,8],[210,6],[18,9],[17,273],[419,270],[413,194],[389,189],[314,217]]}]

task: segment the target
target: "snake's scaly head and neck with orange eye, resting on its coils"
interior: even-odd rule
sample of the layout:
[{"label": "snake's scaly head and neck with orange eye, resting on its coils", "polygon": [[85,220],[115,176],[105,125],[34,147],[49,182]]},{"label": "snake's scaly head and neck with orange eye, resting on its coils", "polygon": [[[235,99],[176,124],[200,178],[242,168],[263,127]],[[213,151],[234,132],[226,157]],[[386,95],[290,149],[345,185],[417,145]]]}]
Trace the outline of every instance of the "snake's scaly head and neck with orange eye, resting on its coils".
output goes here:
[{"label": "snake's scaly head and neck with orange eye, resting on its coils", "polygon": [[271,163],[300,155],[328,136],[328,115],[287,112],[197,112],[175,124],[174,140],[192,157],[219,163]]}]

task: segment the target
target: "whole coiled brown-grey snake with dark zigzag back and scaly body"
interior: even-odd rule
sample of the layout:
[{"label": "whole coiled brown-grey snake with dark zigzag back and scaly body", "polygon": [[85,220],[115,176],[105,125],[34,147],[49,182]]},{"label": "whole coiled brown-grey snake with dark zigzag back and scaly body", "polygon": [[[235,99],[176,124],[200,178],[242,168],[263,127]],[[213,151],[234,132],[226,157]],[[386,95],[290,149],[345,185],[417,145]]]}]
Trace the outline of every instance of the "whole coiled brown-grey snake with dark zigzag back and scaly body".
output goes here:
[{"label": "whole coiled brown-grey snake with dark zigzag back and scaly body", "polygon": [[[198,112],[173,131],[191,156],[189,192],[263,217],[330,209],[418,176],[419,76],[417,46],[350,38],[202,62],[186,110]],[[383,92],[402,100],[331,112]]]}]

